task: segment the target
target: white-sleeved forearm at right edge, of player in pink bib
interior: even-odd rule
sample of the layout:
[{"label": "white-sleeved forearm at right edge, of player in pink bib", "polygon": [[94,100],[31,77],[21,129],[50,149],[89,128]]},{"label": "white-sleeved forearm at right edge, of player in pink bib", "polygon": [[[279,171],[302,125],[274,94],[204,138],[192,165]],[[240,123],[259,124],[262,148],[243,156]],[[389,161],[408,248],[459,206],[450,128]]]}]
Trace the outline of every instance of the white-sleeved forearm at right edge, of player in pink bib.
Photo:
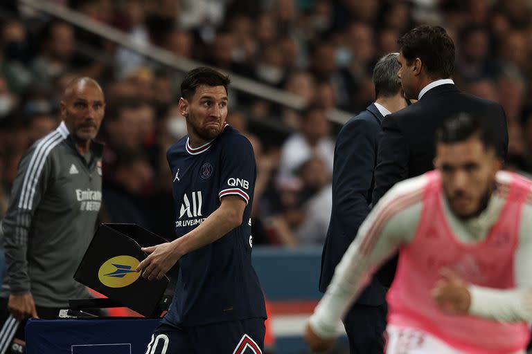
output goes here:
[{"label": "white-sleeved forearm at right edge, of player in pink bib", "polygon": [[507,322],[532,322],[532,290],[469,286],[469,313]]}]

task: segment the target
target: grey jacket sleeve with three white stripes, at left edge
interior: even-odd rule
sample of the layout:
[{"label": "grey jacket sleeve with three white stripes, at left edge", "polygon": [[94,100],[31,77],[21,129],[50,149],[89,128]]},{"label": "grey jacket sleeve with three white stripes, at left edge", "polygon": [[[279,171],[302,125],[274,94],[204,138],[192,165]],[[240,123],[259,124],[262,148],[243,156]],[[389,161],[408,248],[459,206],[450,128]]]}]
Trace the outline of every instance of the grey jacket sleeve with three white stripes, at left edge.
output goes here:
[{"label": "grey jacket sleeve with three white stripes, at left edge", "polygon": [[2,221],[6,248],[6,283],[12,294],[30,292],[28,237],[30,227],[51,173],[51,158],[31,147],[22,158],[11,190],[11,201]]}]

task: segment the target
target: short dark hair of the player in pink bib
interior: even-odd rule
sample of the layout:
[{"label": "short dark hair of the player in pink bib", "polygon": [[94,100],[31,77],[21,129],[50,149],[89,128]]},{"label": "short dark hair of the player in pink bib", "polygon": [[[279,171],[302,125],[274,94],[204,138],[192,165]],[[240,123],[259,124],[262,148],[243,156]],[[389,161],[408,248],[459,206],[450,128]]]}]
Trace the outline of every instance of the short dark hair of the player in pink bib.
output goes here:
[{"label": "short dark hair of the player in pink bib", "polygon": [[489,129],[484,120],[468,113],[458,113],[445,120],[443,126],[436,131],[436,143],[456,144],[473,136],[480,139],[486,151],[497,150],[493,129]]}]

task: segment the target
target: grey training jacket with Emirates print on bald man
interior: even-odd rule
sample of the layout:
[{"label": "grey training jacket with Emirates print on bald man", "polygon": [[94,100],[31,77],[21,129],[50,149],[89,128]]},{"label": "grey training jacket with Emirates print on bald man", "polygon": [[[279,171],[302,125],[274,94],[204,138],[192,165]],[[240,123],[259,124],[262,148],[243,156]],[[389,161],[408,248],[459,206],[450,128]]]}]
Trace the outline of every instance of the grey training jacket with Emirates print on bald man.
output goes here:
[{"label": "grey training jacket with Emirates print on bald man", "polygon": [[91,142],[87,163],[64,122],[28,149],[2,222],[7,274],[1,297],[31,292],[37,306],[52,308],[87,297],[73,274],[100,210],[102,150]]}]

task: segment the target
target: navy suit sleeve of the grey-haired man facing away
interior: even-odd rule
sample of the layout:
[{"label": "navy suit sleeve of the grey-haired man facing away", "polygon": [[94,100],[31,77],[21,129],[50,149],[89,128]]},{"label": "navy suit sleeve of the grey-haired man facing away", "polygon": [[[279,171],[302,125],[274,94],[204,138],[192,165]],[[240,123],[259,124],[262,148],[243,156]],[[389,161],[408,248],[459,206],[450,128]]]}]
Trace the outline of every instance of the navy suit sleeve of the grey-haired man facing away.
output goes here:
[{"label": "navy suit sleeve of the grey-haired man facing away", "polygon": [[349,122],[337,138],[333,200],[342,230],[350,241],[369,214],[368,191],[373,180],[379,133],[377,124],[357,119]]}]

